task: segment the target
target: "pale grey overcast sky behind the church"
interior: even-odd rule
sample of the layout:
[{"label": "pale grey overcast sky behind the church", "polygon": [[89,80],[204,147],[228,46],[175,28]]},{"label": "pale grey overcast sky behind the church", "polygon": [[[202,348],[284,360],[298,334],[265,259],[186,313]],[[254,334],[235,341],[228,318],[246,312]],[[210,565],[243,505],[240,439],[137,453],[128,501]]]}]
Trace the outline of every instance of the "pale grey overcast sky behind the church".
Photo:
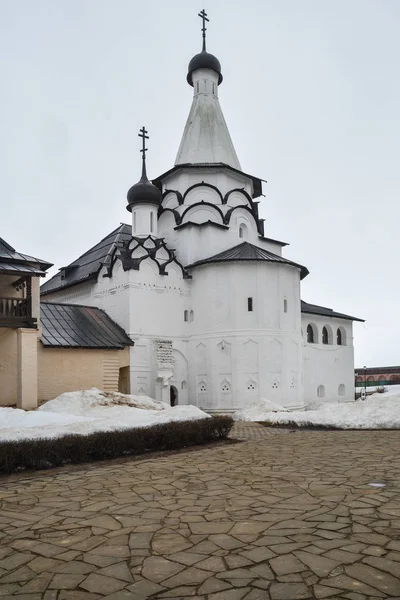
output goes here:
[{"label": "pale grey overcast sky behind the church", "polygon": [[266,235],[304,300],[366,319],[357,366],[398,365],[399,0],[0,0],[0,235],[59,268],[130,222],[143,124],[149,177],[173,166],[203,6]]}]

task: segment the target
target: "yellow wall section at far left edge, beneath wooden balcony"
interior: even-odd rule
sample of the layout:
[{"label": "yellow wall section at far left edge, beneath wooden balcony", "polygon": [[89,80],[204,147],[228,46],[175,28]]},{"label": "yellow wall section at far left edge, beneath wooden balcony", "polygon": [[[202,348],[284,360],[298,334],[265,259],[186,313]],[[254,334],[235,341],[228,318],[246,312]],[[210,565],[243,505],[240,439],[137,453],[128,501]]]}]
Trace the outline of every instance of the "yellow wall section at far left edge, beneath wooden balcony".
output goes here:
[{"label": "yellow wall section at far left edge, beneath wooden balcony", "polygon": [[17,330],[0,327],[0,406],[17,404]]}]

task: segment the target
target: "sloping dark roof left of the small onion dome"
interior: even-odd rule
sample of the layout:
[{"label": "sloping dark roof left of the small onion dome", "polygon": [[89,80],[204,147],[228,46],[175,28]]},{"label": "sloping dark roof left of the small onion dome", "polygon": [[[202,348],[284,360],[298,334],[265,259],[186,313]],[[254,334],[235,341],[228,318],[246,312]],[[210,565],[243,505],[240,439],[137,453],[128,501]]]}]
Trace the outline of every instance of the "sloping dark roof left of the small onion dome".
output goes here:
[{"label": "sloping dark roof left of the small onion dome", "polygon": [[114,229],[93,248],[82,254],[68,267],[60,269],[56,275],[46,281],[40,288],[41,295],[44,296],[83,281],[96,279],[107,257],[112,257],[118,245],[129,241],[131,237],[131,225],[121,223],[117,229]]}]

